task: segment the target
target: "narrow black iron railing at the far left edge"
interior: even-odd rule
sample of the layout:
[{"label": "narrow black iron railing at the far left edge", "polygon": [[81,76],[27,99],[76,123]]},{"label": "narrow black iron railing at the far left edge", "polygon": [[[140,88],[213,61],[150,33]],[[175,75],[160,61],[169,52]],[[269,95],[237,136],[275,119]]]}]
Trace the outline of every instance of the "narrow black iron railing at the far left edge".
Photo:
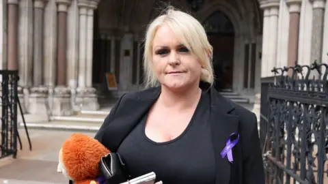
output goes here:
[{"label": "narrow black iron railing at the far left edge", "polygon": [[[17,155],[17,140],[20,149],[23,149],[20,136],[18,134],[17,108],[25,125],[25,119],[18,98],[18,71],[0,70],[1,84],[1,136],[0,136],[0,158]],[[17,106],[18,105],[18,106]],[[31,150],[31,140],[25,125],[25,132],[29,141],[29,149]]]}]

